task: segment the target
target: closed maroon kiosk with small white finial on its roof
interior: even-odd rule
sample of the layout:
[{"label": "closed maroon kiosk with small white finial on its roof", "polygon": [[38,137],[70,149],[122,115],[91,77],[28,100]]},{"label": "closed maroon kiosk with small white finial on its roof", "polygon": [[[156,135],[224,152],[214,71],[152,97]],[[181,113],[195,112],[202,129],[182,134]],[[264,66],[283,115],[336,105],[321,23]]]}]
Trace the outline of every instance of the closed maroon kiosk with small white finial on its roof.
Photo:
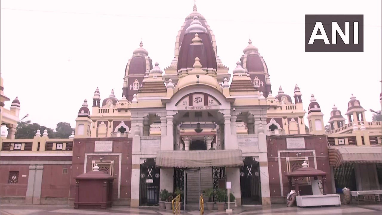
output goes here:
[{"label": "closed maroon kiosk with small white finial on its roof", "polygon": [[93,171],[81,174],[75,179],[74,208],[106,209],[112,206],[112,188],[115,178],[99,171],[97,164],[93,167]]}]

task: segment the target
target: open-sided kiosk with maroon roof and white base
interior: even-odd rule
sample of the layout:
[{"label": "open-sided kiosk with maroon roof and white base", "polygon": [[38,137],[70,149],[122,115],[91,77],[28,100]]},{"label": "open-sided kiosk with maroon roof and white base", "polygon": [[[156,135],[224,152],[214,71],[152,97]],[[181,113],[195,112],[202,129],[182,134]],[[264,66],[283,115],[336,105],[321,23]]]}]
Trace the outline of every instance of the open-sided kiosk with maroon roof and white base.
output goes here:
[{"label": "open-sided kiosk with maroon roof and white base", "polygon": [[[295,182],[296,203],[298,207],[324,206],[324,205],[341,205],[340,195],[326,194],[326,175],[324,171],[308,167],[304,161],[302,168],[297,169],[286,175],[289,181],[289,187],[292,190],[292,181]],[[322,178],[322,194],[319,195],[300,195],[298,188],[298,179],[301,177]]]}]

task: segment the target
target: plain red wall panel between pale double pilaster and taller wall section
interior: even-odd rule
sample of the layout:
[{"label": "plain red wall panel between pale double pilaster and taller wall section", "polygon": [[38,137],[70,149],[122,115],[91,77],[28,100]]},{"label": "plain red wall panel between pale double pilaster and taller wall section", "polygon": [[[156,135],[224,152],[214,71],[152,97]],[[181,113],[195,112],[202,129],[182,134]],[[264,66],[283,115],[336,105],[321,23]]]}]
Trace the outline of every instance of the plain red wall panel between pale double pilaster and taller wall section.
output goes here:
[{"label": "plain red wall panel between pale double pilaster and taller wall section", "polygon": [[[67,169],[67,173],[63,173]],[[41,197],[68,197],[71,165],[44,165]]]}]

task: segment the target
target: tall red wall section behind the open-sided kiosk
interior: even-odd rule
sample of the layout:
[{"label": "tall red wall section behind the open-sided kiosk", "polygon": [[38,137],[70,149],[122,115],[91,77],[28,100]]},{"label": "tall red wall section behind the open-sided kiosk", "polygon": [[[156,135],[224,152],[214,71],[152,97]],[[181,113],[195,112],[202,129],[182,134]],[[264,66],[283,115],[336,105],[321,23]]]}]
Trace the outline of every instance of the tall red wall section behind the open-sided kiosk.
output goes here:
[{"label": "tall red wall section behind the open-sided kiosk", "polygon": [[[330,174],[330,166],[329,166],[329,157],[328,157],[328,149],[325,135],[314,135],[314,136],[305,136],[305,149],[307,150],[316,150],[316,161],[317,167],[314,166],[314,158],[312,152],[301,152],[299,157],[308,156],[309,158],[309,166],[322,170],[327,174],[326,176],[326,190],[327,194],[332,193],[332,178]],[[280,178],[279,178],[279,168],[278,168],[278,150],[288,150],[286,148],[286,137],[272,137],[267,136],[267,149],[268,149],[268,171],[269,171],[269,188],[270,188],[270,196],[271,197],[280,197]],[[281,173],[282,173],[282,181],[283,181],[283,194],[284,197],[288,195],[290,192],[288,178],[285,174],[287,171],[287,163],[285,157],[297,157],[296,150],[294,152],[288,153],[280,153],[281,159]],[[283,158],[284,157],[284,158]],[[320,179],[320,178],[319,178]],[[311,194],[310,186],[300,186],[302,194]]]}]

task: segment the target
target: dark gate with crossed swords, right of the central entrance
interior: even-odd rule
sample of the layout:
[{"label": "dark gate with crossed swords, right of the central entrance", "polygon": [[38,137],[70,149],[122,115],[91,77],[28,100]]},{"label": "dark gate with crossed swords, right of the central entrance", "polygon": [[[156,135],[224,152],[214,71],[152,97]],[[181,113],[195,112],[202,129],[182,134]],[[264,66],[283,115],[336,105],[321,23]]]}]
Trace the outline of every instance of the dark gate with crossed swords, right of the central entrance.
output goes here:
[{"label": "dark gate with crossed swords, right of the central entrance", "polygon": [[242,205],[261,204],[260,163],[252,157],[245,157],[240,168],[240,189]]}]

